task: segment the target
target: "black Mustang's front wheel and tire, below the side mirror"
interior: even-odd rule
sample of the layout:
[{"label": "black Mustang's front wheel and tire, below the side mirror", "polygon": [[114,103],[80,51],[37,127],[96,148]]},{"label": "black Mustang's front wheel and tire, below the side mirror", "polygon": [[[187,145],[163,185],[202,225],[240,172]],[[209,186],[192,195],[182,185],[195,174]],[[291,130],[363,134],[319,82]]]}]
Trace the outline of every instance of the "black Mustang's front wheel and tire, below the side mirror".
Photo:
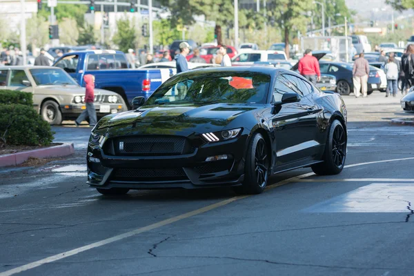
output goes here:
[{"label": "black Mustang's front wheel and tire, below the side mirror", "polygon": [[260,133],[255,133],[250,139],[244,164],[244,181],[236,191],[245,194],[259,194],[267,186],[270,175],[270,155],[268,144]]}]

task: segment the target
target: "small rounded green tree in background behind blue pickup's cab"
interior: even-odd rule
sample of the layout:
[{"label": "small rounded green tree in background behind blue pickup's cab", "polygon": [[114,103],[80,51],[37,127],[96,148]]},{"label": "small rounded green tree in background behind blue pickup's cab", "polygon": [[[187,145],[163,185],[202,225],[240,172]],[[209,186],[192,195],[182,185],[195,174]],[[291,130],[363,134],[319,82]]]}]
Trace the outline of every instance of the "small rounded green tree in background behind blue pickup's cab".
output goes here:
[{"label": "small rounded green tree in background behind blue pickup's cab", "polygon": [[134,20],[131,22],[127,17],[117,21],[117,32],[112,41],[117,44],[122,52],[128,52],[129,48],[135,48],[137,35],[134,25]]}]

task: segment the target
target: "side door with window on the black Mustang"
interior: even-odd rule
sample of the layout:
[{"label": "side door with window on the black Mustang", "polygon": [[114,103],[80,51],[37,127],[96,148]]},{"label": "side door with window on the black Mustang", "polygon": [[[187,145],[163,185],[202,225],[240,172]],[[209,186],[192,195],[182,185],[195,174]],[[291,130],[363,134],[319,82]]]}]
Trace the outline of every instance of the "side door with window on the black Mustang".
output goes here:
[{"label": "side door with window on the black Mustang", "polygon": [[[275,130],[277,170],[284,170],[292,163],[306,164],[313,155],[315,146],[315,107],[310,93],[303,92],[304,83],[296,76],[283,74],[277,77],[273,96],[275,102],[281,101],[284,93],[296,93],[300,101],[284,103],[275,107],[272,126]],[[307,94],[307,95],[304,95]],[[278,110],[279,109],[279,110]]]}]

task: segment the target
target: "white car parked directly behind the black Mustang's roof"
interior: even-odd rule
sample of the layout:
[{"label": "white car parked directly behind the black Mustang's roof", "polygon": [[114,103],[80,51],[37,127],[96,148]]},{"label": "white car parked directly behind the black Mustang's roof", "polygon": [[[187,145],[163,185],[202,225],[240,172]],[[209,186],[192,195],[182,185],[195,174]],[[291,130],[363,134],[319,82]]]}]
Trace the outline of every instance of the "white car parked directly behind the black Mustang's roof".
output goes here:
[{"label": "white car parked directly behind the black Mustang's roof", "polygon": [[233,65],[251,65],[255,61],[286,60],[284,51],[275,50],[255,50],[250,52],[241,52],[235,55],[231,60]]}]

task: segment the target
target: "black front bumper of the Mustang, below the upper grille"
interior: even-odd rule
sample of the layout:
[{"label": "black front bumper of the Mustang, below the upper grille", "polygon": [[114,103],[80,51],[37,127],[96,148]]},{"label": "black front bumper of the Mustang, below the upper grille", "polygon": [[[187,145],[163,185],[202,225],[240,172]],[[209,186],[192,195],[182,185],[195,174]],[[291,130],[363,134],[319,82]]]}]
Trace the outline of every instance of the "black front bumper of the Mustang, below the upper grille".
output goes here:
[{"label": "black front bumper of the Mustang, below the upper grille", "polygon": [[[191,189],[241,185],[248,135],[217,143],[197,139],[201,143],[193,152],[172,156],[113,156],[106,154],[99,146],[89,144],[87,184],[106,189]],[[197,141],[191,142],[197,144]],[[216,155],[228,155],[229,158],[206,161],[207,157]],[[90,161],[90,157],[99,159],[99,163]]]}]

